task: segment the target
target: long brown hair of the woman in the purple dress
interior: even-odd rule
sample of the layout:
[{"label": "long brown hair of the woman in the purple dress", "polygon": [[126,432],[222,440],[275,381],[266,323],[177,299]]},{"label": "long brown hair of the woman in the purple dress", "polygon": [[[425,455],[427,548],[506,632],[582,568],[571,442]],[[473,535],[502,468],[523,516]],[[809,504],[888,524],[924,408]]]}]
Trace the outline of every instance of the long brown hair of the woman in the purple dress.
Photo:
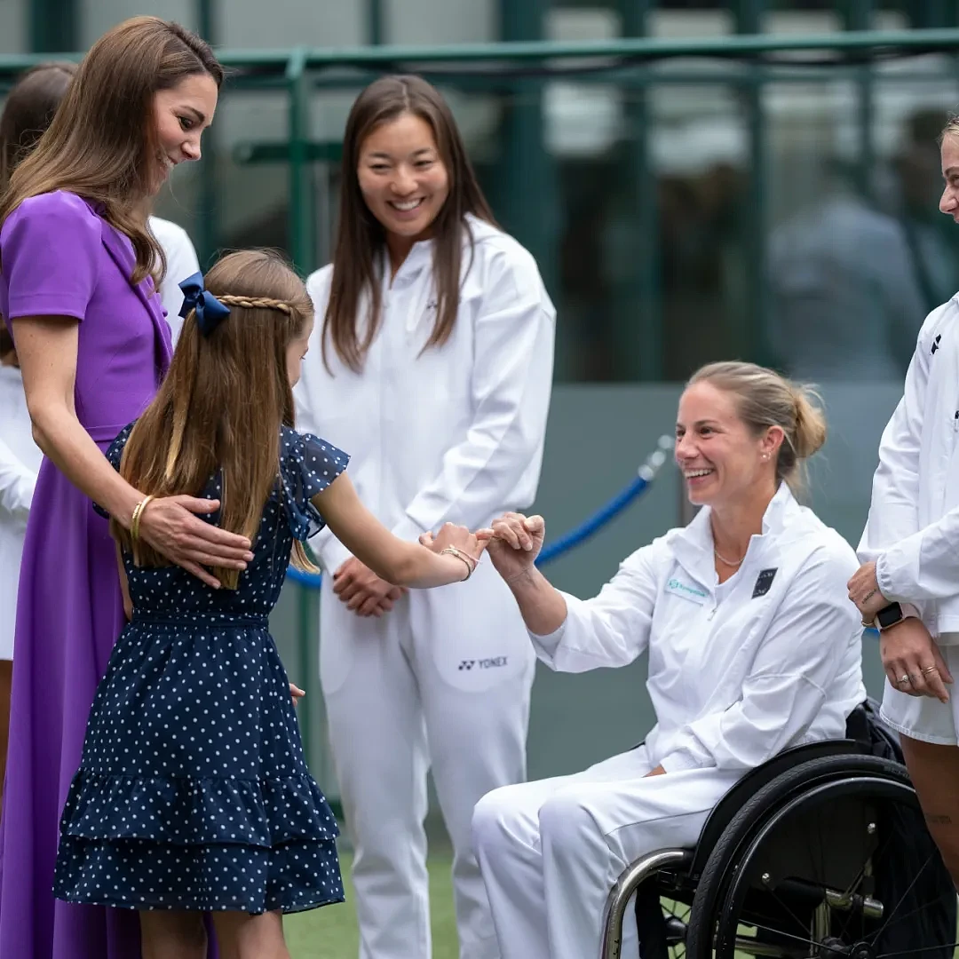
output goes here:
[{"label": "long brown hair of the woman in the purple dress", "polygon": [[158,151],[153,95],[198,74],[222,83],[209,44],[179,24],[136,16],[103,35],[35,151],[13,171],[0,197],[0,226],[24,199],[69,190],[103,203],[105,220],[129,236],[136,253],[130,281],[149,274],[159,281],[166,258],[147,227],[145,203]]}]

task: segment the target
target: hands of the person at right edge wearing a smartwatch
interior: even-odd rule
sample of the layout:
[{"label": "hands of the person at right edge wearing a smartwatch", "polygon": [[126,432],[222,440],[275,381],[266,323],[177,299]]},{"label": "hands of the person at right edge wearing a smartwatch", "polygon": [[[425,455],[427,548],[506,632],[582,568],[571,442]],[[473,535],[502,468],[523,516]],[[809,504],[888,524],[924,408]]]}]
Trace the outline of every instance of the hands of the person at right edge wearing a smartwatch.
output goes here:
[{"label": "hands of the person at right edge wearing a smartwatch", "polygon": [[[863,625],[872,623],[879,610],[889,605],[879,589],[875,562],[863,563],[846,585]],[[946,686],[952,682],[952,674],[923,620],[907,617],[882,630],[879,655],[894,690],[948,702]]]}]

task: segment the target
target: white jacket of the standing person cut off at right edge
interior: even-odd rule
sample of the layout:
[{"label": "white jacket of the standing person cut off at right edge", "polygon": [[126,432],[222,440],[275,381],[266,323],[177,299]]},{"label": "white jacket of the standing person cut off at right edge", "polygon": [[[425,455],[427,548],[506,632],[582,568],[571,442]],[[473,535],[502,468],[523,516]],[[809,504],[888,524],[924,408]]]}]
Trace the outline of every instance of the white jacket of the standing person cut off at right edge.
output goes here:
[{"label": "white jacket of the standing person cut off at right edge", "polygon": [[859,559],[933,636],[959,633],[959,294],[925,318],[882,433]]}]

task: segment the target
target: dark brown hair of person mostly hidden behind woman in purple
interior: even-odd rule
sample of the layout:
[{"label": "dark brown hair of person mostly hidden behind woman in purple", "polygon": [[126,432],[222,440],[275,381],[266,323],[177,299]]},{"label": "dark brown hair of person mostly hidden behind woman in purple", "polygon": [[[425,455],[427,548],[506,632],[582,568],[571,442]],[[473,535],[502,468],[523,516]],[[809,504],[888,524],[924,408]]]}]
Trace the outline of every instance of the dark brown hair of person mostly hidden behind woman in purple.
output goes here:
[{"label": "dark brown hair of person mostly hidden behind woman in purple", "polygon": [[[36,146],[50,126],[67,87],[77,73],[70,60],[51,60],[31,67],[14,83],[0,114],[0,194],[13,168]],[[13,353],[13,338],[0,317],[0,360]]]}]

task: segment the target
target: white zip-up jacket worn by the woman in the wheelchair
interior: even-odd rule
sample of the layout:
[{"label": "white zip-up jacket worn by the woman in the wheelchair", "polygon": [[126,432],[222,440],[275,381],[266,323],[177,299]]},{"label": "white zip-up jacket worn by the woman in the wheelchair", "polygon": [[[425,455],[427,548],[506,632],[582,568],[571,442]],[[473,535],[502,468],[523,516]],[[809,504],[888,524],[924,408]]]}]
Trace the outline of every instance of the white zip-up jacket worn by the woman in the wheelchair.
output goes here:
[{"label": "white zip-up jacket worn by the woman in the wheelchair", "polygon": [[738,573],[719,583],[710,509],[637,550],[593,599],[530,634],[562,672],[649,653],[656,725],[649,758],[668,772],[753,769],[790,746],[843,738],[866,698],[862,626],[846,593],[852,547],[783,483]]}]

